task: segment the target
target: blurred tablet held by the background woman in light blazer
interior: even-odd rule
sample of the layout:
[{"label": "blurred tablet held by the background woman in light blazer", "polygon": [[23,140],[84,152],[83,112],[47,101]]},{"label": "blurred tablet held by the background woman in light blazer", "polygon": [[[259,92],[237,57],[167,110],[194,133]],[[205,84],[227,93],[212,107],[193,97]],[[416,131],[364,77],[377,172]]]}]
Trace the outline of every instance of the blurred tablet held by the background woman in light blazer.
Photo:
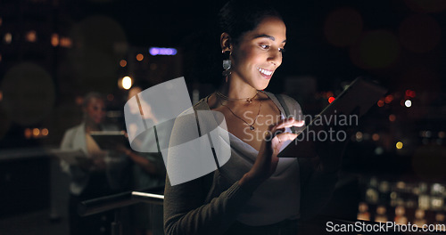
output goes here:
[{"label": "blurred tablet held by the background woman in light blazer", "polygon": [[101,150],[115,150],[119,145],[129,148],[128,136],[125,131],[90,132],[90,135]]}]

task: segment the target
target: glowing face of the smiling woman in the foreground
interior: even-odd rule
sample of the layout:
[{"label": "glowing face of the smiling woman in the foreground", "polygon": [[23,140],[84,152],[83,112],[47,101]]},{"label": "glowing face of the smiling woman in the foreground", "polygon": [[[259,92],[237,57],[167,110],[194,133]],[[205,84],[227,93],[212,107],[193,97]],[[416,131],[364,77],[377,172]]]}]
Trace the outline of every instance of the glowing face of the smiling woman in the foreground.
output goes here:
[{"label": "glowing face of the smiling woman in the foreground", "polygon": [[245,33],[232,51],[231,79],[239,79],[257,90],[268,86],[274,71],[282,64],[286,41],[285,23],[268,17]]}]

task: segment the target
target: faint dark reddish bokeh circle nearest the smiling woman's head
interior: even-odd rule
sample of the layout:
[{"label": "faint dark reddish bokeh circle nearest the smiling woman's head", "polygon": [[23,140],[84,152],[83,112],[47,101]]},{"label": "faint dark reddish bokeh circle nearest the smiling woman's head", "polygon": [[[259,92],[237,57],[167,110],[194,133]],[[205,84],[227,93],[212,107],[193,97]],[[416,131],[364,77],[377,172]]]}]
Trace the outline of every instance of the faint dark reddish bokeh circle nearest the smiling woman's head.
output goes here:
[{"label": "faint dark reddish bokeh circle nearest the smiling woman's head", "polygon": [[331,12],[324,24],[324,34],[328,43],[335,46],[352,45],[362,32],[362,17],[351,7],[343,7]]}]

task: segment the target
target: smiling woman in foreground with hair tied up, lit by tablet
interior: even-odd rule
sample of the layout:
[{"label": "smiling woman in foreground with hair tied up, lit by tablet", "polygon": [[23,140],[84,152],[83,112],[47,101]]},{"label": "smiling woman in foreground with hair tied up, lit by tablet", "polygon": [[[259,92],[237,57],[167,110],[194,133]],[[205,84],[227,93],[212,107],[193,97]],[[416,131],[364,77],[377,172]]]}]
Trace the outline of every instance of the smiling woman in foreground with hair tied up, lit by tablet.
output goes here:
[{"label": "smiling woman in foreground with hair tied up, lit by tablet", "polygon": [[[336,166],[277,158],[304,121],[296,101],[261,92],[286,43],[285,23],[270,7],[231,1],[220,11],[224,84],[194,109],[223,113],[231,158],[190,182],[171,186],[167,179],[166,234],[296,234],[297,220],[323,207],[334,189]],[[182,125],[176,122],[172,138]]]}]

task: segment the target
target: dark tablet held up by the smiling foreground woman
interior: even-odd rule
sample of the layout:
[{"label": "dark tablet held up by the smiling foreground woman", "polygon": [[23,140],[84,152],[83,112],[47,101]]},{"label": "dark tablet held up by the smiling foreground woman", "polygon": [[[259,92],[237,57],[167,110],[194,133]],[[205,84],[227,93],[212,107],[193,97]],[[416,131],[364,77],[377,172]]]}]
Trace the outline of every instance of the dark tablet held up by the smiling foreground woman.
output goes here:
[{"label": "dark tablet held up by the smiling foreground woman", "polygon": [[358,125],[359,118],[385,93],[387,93],[387,89],[383,86],[367,78],[356,78],[343,93],[335,98],[335,101],[332,101],[315,118],[311,118],[310,124],[293,142],[290,142],[285,149],[279,152],[277,157],[310,157],[314,152],[312,150],[314,142],[345,141],[343,133],[331,132],[334,129],[330,129],[329,126]]}]

